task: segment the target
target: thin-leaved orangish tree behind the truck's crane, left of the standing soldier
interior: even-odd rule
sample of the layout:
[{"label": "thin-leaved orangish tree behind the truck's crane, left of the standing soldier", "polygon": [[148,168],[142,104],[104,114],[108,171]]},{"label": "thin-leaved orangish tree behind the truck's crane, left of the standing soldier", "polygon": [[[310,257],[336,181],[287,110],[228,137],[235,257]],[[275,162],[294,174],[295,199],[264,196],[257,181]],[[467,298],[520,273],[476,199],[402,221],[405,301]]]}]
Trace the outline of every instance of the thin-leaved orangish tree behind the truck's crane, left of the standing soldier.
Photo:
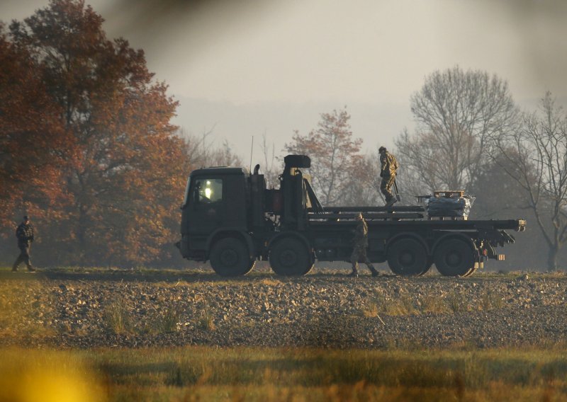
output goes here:
[{"label": "thin-leaved orangish tree behind the truck's crane, left of the standing soldier", "polygon": [[362,139],[352,137],[347,109],[322,113],[315,130],[307,135],[295,132],[293,142],[285,145],[290,154],[305,154],[311,159],[313,188],[323,206],[348,203],[364,158],[359,154]]}]

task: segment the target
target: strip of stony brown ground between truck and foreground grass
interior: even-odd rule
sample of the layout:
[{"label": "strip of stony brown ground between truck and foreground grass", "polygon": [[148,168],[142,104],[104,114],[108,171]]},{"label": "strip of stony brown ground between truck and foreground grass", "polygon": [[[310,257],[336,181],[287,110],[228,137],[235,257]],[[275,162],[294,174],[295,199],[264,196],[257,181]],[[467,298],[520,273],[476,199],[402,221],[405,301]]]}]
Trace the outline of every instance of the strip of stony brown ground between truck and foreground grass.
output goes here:
[{"label": "strip of stony brown ground between truck and foreground grass", "polygon": [[[567,341],[565,273],[0,271],[0,345],[493,348]],[[366,272],[364,272],[366,274]]]}]

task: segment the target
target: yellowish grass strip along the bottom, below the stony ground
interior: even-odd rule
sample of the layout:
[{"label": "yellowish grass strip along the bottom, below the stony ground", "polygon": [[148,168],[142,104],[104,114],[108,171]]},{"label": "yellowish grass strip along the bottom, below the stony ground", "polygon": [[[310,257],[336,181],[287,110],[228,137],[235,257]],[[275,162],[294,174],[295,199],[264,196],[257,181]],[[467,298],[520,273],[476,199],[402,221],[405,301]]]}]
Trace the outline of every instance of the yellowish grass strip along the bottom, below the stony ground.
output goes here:
[{"label": "yellowish grass strip along the bottom, below the stony ground", "polygon": [[0,401],[566,401],[567,347],[0,350]]}]

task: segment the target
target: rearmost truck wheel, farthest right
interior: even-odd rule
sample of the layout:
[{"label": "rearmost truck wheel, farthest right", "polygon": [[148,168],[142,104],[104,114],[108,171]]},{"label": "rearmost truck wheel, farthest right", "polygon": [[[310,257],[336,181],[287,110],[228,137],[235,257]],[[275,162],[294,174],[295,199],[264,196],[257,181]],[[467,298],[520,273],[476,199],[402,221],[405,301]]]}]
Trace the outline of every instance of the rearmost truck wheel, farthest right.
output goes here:
[{"label": "rearmost truck wheel, farthest right", "polygon": [[474,272],[474,250],[461,239],[446,239],[433,254],[435,267],[443,276],[464,277]]}]

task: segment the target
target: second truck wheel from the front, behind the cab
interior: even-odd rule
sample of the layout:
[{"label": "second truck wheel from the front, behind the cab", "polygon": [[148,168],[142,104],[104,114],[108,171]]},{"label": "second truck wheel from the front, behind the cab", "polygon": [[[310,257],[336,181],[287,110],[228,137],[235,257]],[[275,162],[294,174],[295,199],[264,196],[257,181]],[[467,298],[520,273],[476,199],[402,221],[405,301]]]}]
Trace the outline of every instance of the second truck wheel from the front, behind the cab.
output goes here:
[{"label": "second truck wheel from the front, behind the cab", "polygon": [[281,239],[270,248],[271,269],[278,275],[305,275],[313,268],[313,258],[305,244],[293,238]]}]

